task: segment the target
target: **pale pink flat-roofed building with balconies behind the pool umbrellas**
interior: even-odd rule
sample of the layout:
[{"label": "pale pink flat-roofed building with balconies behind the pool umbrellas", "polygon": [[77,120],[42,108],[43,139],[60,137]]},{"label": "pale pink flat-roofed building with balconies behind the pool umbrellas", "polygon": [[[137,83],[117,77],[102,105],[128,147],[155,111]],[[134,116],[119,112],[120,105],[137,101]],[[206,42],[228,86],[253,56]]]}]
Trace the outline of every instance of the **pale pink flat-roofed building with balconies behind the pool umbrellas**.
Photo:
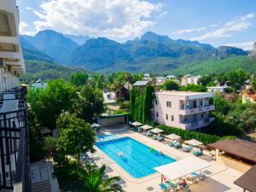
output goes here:
[{"label": "pale pink flat-roofed building with balconies behind the pool umbrellas", "polygon": [[161,125],[183,130],[200,130],[210,125],[214,110],[213,93],[190,91],[158,91],[155,93],[153,119]]}]

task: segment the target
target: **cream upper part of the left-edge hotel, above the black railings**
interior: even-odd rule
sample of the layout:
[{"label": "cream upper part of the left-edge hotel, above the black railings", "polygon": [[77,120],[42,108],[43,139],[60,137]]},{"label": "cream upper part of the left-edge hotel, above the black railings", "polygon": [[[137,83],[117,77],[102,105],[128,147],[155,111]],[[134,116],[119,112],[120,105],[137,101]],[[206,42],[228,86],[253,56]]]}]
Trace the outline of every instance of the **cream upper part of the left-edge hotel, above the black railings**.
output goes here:
[{"label": "cream upper part of the left-edge hotel, above the black railings", "polygon": [[19,86],[25,65],[19,38],[19,9],[15,0],[0,1],[0,92]]}]

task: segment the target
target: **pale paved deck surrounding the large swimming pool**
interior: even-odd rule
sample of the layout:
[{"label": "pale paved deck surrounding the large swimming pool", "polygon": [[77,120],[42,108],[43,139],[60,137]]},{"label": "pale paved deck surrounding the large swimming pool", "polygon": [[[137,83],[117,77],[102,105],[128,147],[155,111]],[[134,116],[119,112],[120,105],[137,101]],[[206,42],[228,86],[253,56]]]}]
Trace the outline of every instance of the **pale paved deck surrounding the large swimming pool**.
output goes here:
[{"label": "pale paved deck surrounding the large swimming pool", "polygon": [[[143,134],[130,131],[125,128],[120,129],[108,129],[103,128],[102,133],[113,133],[118,137],[131,137],[140,143],[148,145],[148,147],[155,148],[158,151],[162,151],[164,154],[172,157],[176,160],[181,160],[183,158],[193,155],[190,153],[185,153],[182,149],[171,148],[166,143],[160,143],[152,138],[143,136]],[[95,147],[96,148],[96,147]],[[162,191],[158,184],[160,183],[160,173],[154,173],[147,177],[134,178],[131,177],[127,172],[125,172],[119,165],[117,165],[113,160],[111,160],[107,154],[104,154],[99,148],[96,148],[96,157],[101,157],[97,161],[99,166],[107,165],[107,174],[109,177],[119,176],[121,181],[119,183],[123,186],[123,189],[127,192],[160,192]],[[212,166],[207,167],[203,172],[207,175],[207,178],[201,182],[189,185],[189,189],[193,192],[241,192],[242,189],[236,186],[233,182],[241,177],[242,173],[237,172],[223,164],[220,164],[211,159],[207,154],[200,157],[203,160],[207,160]],[[183,190],[180,190],[183,191]]]}]

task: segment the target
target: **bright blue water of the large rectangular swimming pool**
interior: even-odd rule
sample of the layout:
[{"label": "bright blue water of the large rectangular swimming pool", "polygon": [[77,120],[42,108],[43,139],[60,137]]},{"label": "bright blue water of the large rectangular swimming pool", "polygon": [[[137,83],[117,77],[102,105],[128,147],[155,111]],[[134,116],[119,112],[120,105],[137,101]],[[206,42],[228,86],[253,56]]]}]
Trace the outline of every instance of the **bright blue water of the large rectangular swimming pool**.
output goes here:
[{"label": "bright blue water of the large rectangular swimming pool", "polygon": [[[150,148],[139,143],[131,137],[122,137],[105,142],[97,142],[96,146],[121,166],[132,177],[145,177],[155,172],[154,167],[163,166],[176,160],[159,154],[158,151],[150,152]],[[119,153],[123,157],[119,156]]]}]

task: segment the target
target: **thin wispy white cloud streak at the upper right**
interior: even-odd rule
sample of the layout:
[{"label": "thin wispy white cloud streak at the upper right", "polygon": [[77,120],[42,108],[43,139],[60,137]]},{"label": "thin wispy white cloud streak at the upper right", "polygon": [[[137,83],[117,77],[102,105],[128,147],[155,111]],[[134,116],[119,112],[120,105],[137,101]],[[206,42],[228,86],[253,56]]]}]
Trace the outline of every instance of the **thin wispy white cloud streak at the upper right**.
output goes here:
[{"label": "thin wispy white cloud streak at the upper right", "polygon": [[204,35],[199,37],[191,38],[192,41],[201,41],[208,38],[225,38],[232,36],[233,32],[240,32],[242,30],[246,30],[248,27],[252,26],[251,20],[255,14],[248,14],[236,18],[234,20],[230,20],[224,24],[221,28],[218,28],[212,32],[207,32]]}]

